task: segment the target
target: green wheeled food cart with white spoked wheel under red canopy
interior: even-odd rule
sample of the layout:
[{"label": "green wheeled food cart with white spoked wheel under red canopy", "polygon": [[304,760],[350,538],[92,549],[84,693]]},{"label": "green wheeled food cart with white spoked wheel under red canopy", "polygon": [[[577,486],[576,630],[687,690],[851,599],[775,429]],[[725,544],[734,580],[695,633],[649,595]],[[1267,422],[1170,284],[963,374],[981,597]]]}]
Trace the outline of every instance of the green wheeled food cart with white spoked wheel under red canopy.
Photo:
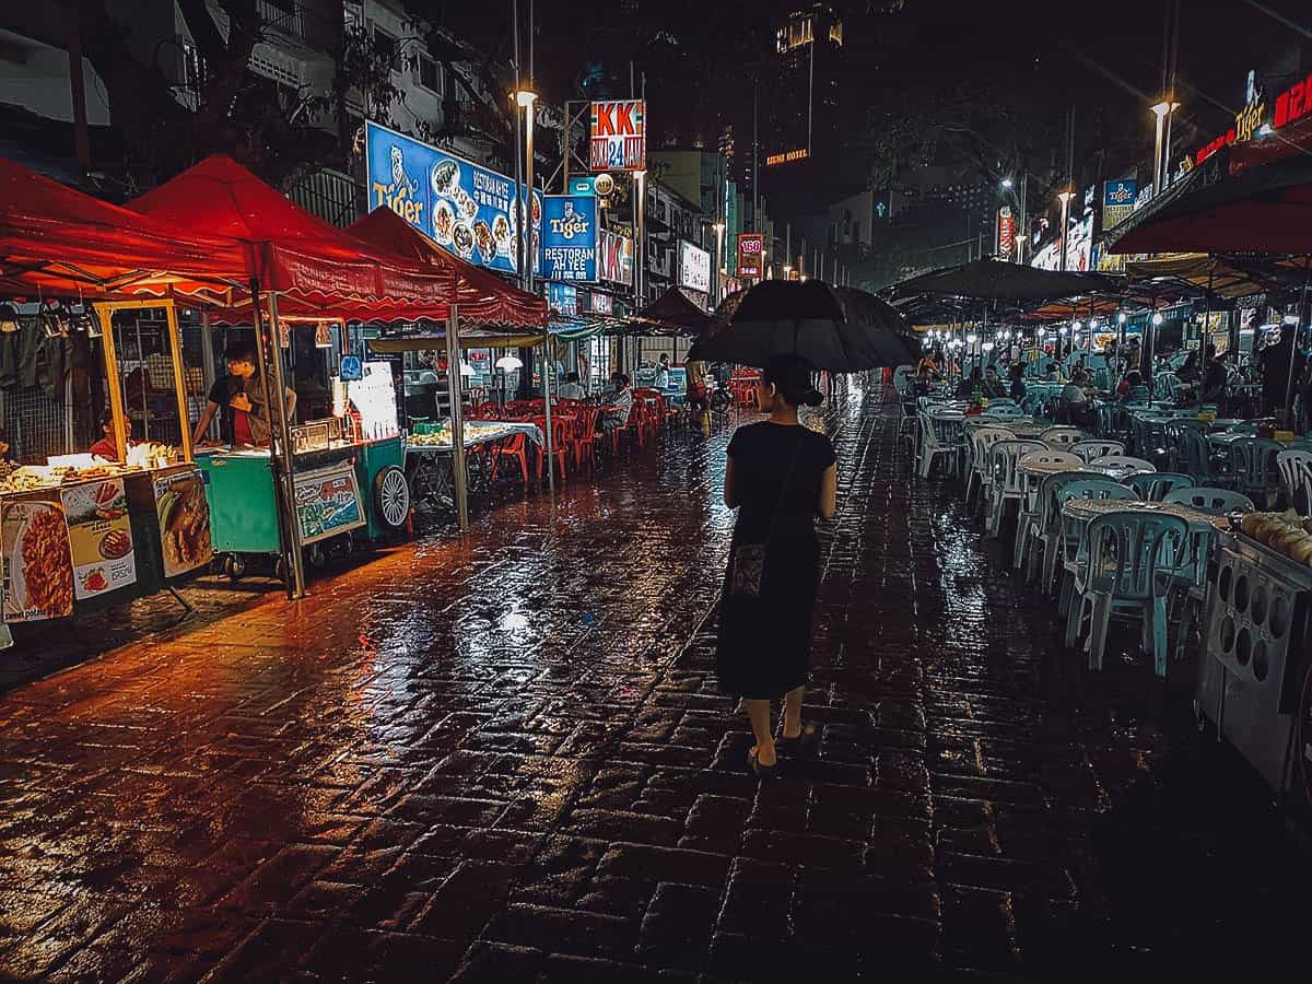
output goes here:
[{"label": "green wheeled food cart with white spoked wheel under red canopy", "polygon": [[[329,548],[391,537],[409,520],[391,365],[366,362],[359,375],[333,379],[333,416],[290,429],[299,541],[312,564],[321,563]],[[223,555],[227,575],[241,577],[248,560],[262,555],[274,559],[281,577],[283,535],[273,451],[202,449],[197,462],[206,478],[214,550]]]}]

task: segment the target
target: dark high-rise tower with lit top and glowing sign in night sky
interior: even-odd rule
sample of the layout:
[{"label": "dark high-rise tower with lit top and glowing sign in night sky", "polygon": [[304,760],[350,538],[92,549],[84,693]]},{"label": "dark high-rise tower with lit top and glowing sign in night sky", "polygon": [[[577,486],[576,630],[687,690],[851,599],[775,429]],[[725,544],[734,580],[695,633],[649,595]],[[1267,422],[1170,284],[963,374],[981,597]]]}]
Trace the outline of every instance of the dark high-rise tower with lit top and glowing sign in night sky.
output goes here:
[{"label": "dark high-rise tower with lit top and glowing sign in night sky", "polygon": [[796,10],[774,47],[775,73],[761,93],[761,188],[787,207],[837,159],[842,20],[827,4]]}]

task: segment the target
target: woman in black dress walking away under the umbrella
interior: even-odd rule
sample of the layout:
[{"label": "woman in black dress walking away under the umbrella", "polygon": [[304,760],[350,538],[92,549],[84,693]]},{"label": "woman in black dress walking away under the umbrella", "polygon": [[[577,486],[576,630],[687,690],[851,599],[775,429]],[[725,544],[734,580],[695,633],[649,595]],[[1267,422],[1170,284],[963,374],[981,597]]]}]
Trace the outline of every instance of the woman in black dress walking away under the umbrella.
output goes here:
[{"label": "woman in black dress walking away under the umbrella", "polygon": [[739,514],[715,668],[720,693],[743,699],[756,736],[750,766],[766,777],[777,765],[770,701],[785,698],[783,740],[802,736],[820,580],[815,518],[833,518],[837,471],[829,438],[798,421],[798,405],[820,404],[806,362],[773,358],[756,400],[770,419],[733,433],[724,468],[724,501]]}]

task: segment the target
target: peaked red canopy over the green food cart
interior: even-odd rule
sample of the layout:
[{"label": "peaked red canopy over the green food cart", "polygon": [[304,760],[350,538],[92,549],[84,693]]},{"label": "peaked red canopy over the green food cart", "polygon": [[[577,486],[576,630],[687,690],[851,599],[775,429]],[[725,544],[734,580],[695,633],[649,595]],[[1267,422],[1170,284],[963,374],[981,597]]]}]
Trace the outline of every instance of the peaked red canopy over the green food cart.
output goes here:
[{"label": "peaked red canopy over the green food cart", "polygon": [[412,258],[366,247],[230,157],[206,157],[129,207],[197,236],[240,241],[244,279],[279,294],[289,316],[366,320],[369,310],[382,314],[416,302],[445,318],[437,307],[449,299],[449,279]]}]

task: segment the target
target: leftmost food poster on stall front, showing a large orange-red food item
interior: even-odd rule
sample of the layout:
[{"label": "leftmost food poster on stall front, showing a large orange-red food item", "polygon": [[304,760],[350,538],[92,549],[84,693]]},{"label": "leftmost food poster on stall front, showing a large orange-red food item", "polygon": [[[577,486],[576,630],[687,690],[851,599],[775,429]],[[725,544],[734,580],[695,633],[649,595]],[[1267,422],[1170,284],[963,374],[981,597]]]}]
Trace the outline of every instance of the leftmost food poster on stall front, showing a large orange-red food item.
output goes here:
[{"label": "leftmost food poster on stall front, showing a large orange-red food item", "polygon": [[58,501],[0,506],[0,547],[5,622],[39,622],[73,613],[68,523]]}]

